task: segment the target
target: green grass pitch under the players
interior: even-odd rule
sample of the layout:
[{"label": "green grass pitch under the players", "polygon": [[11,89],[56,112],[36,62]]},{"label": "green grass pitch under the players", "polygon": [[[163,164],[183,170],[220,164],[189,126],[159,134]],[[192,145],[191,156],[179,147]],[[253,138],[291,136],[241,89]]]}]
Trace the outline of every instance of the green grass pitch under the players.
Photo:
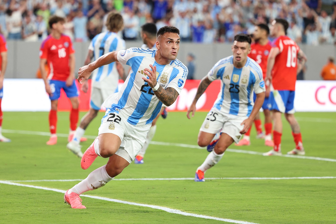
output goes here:
[{"label": "green grass pitch under the players", "polygon": [[[81,117],[84,113],[81,113]],[[185,113],[171,112],[158,120],[153,141],[197,145],[199,128],[206,113],[197,112],[192,120]],[[85,135],[96,136],[103,113],[89,125]],[[223,159],[207,171],[205,178],[236,177],[335,177],[335,113],[297,113],[306,156],[332,161],[265,157],[260,154],[227,151]],[[67,138],[58,137],[57,145],[47,146],[48,113],[6,112],[3,135],[12,142],[0,142],[0,180],[70,180],[15,182],[67,190],[94,169],[106,164],[97,158],[87,170],[80,159],[66,149]],[[35,131],[15,134],[13,130]],[[69,113],[58,113],[57,133],[69,132]],[[43,134],[43,133],[42,133]],[[293,149],[290,127],[284,123],[282,151]],[[92,143],[83,142],[82,151]],[[251,146],[230,146],[254,152],[269,147],[255,139]],[[151,144],[143,165],[130,164],[106,186],[84,194],[146,205],[156,205],[183,212],[254,223],[335,223],[336,179],[208,179],[193,180],[121,180],[129,178],[193,178],[196,168],[208,152],[196,147]],[[183,216],[162,210],[82,197],[84,210],[64,204],[63,193],[26,186],[0,183],[0,223],[223,223]],[[225,223],[225,222],[224,222]]]}]

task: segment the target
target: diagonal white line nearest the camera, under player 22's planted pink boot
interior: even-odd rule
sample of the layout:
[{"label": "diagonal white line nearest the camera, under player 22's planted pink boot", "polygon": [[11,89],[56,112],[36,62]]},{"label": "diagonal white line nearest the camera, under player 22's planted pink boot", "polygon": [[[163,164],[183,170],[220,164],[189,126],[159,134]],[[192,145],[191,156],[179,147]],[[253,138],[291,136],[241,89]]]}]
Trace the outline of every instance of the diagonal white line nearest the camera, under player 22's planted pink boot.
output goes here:
[{"label": "diagonal white line nearest the camera, under player 22's planted pink boot", "polygon": [[[8,185],[21,186],[21,187],[31,187],[31,188],[42,189],[42,190],[56,191],[56,192],[63,193],[63,194],[65,193],[65,190],[59,190],[59,189],[55,189],[55,188],[12,183],[12,182],[9,182],[9,181],[1,181],[1,180],[0,180],[0,183],[8,184]],[[130,201],[112,199],[112,198],[108,198],[108,197],[98,197],[98,196],[91,196],[91,195],[85,195],[85,194],[81,194],[81,197],[90,197],[90,198],[94,198],[94,199],[112,201],[112,202],[122,203],[122,204],[127,204],[127,205],[134,205],[134,206],[148,207],[148,208],[152,208],[152,209],[159,209],[159,210],[163,210],[163,211],[169,212],[169,213],[174,213],[174,214],[183,215],[183,216],[192,216],[192,217],[196,217],[196,218],[213,219],[213,220],[230,222],[230,223],[238,223],[238,224],[258,224],[258,223],[245,222],[245,221],[239,221],[239,220],[234,220],[234,219],[223,219],[223,218],[217,218],[217,217],[212,217],[212,216],[198,215],[198,214],[194,214],[194,213],[182,212],[182,211],[177,210],[177,209],[170,209],[170,208],[156,206],[156,205],[146,205],[146,204],[134,203],[134,202],[130,202]]]}]

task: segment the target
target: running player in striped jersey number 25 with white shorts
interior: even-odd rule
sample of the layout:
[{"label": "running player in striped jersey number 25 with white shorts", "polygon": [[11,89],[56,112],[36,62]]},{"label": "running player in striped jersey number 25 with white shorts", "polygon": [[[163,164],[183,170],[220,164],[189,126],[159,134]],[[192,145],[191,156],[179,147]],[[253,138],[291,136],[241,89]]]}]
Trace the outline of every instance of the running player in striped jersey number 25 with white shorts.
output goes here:
[{"label": "running player in striped jersey number 25 with white shorts", "polygon": [[[204,173],[216,165],[227,147],[239,141],[250,128],[265,98],[265,84],[258,63],[247,55],[251,52],[251,37],[246,34],[235,36],[232,45],[233,55],[219,60],[198,86],[196,96],[187,111],[194,117],[197,100],[210,83],[221,80],[221,91],[212,109],[205,118],[198,134],[198,145],[207,146],[216,133],[220,137],[204,163],[196,169],[195,181],[202,182]],[[253,103],[253,91],[256,99]],[[253,105],[254,104],[254,105]]]}]

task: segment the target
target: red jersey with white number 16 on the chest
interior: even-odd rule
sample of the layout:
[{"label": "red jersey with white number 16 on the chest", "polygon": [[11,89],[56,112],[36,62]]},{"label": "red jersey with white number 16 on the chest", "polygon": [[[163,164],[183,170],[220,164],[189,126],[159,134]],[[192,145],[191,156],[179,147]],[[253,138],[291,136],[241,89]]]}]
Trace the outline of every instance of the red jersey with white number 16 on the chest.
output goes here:
[{"label": "red jersey with white number 16 on the chest", "polygon": [[70,75],[69,56],[75,53],[70,37],[61,35],[59,39],[51,35],[45,39],[40,48],[40,58],[47,59],[50,72],[49,80],[66,81]]}]

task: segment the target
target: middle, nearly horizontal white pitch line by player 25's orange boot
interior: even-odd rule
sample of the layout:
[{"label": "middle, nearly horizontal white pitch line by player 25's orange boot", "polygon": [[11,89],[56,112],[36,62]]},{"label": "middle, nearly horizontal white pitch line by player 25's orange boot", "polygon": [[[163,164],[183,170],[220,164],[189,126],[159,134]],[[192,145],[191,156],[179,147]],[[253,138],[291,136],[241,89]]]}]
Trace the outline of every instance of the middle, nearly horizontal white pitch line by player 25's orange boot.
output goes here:
[{"label": "middle, nearly horizontal white pitch line by player 25's orange boot", "polygon": [[[336,179],[336,177],[210,177],[206,180],[293,180],[293,179]],[[113,179],[113,181],[123,180],[194,180],[194,178],[128,178]],[[6,180],[8,182],[71,182],[82,181],[82,179],[70,180]]]}]

